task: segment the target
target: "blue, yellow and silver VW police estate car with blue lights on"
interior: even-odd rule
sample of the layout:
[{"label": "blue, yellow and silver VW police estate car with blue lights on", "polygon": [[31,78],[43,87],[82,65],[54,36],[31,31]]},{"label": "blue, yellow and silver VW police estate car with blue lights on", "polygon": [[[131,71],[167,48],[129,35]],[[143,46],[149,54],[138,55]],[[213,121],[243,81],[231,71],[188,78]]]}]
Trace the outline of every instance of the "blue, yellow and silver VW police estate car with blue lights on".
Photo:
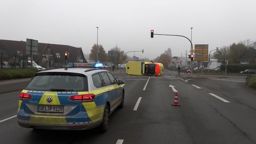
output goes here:
[{"label": "blue, yellow and silver VW police estate car with blue lights on", "polygon": [[[34,129],[108,129],[110,114],[123,108],[123,81],[102,68],[76,67],[37,72],[19,94],[18,124]],[[99,66],[97,66],[99,67]],[[103,67],[103,65],[100,67]]]}]

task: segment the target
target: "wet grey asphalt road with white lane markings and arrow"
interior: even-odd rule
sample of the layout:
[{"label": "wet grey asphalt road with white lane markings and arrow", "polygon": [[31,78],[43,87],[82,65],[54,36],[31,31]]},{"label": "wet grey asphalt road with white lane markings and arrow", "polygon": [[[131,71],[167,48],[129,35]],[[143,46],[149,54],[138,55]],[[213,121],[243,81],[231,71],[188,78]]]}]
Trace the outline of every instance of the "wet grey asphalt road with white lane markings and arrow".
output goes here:
[{"label": "wet grey asphalt road with white lane markings and arrow", "polygon": [[22,128],[15,91],[0,94],[0,144],[256,144],[256,90],[244,77],[114,75],[125,82],[125,103],[106,133]]}]

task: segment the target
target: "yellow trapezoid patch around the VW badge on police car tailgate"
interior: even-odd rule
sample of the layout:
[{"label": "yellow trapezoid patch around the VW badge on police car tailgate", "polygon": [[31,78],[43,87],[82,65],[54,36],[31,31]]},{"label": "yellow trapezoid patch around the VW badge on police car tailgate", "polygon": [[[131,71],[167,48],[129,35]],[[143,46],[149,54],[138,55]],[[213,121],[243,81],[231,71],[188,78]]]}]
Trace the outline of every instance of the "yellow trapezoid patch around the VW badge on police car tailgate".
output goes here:
[{"label": "yellow trapezoid patch around the VW badge on police car tailgate", "polygon": [[[49,96],[53,98],[51,103],[48,103],[47,100],[46,100],[46,98],[49,97]],[[55,91],[46,91],[42,95],[38,104],[60,105],[57,92],[55,92]]]}]

